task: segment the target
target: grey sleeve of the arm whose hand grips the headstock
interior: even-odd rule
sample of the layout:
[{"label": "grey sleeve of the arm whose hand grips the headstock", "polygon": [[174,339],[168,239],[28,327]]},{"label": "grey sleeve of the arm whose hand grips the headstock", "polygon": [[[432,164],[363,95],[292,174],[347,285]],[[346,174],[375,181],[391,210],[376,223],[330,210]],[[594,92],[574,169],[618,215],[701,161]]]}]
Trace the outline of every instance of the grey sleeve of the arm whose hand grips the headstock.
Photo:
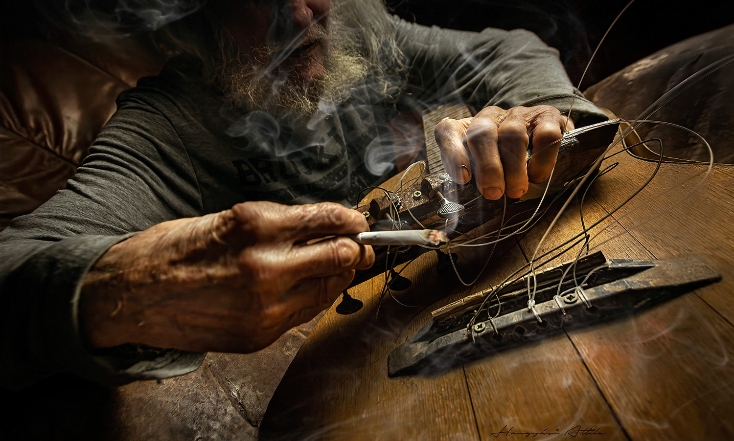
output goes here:
[{"label": "grey sleeve of the arm whose hand grips the headstock", "polygon": [[482,109],[554,106],[580,125],[606,120],[568,79],[556,49],[524,29],[464,32],[396,22],[408,68],[407,92],[417,101],[462,100]]}]

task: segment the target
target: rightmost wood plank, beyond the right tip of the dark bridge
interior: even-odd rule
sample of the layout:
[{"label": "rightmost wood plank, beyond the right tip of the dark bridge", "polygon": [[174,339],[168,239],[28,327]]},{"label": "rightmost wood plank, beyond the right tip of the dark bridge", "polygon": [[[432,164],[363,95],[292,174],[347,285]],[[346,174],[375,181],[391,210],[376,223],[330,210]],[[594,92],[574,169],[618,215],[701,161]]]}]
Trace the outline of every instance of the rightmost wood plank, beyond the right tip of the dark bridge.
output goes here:
[{"label": "rightmost wood plank, beyond the right tip of the dark bridge", "polygon": [[[629,156],[624,159],[625,164],[633,161]],[[601,181],[592,196],[607,209],[619,205],[622,195],[642,185],[654,167],[649,162],[636,162],[639,164],[635,170],[627,167],[628,170],[620,170],[620,174]],[[734,291],[727,283],[729,277],[734,277],[734,234],[731,233],[734,167],[715,166],[697,194],[672,207],[691,192],[703,170],[705,167],[693,164],[664,164],[658,178],[641,197],[619,211],[619,216],[627,214],[619,222],[631,229],[639,242],[658,258],[695,255],[721,272],[722,283],[699,293],[727,321],[734,323]],[[642,223],[658,213],[661,216],[653,222]]]}]

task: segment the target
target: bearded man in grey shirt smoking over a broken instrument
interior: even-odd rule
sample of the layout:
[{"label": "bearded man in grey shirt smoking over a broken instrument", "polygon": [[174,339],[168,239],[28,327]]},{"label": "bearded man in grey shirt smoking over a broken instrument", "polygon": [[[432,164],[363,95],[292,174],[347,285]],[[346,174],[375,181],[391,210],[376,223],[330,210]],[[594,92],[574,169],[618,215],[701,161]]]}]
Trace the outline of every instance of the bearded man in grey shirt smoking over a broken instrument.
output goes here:
[{"label": "bearded man in grey shirt smoking over a broken instrument", "polygon": [[575,90],[533,34],[429,29],[377,0],[212,0],[159,36],[176,56],[0,236],[8,386],[179,375],[316,316],[374,253],[310,239],[368,229],[346,206],[396,172],[400,112],[481,109],[436,134],[454,179],[493,200],[544,181],[574,121],[605,118],[581,96],[567,117]]}]

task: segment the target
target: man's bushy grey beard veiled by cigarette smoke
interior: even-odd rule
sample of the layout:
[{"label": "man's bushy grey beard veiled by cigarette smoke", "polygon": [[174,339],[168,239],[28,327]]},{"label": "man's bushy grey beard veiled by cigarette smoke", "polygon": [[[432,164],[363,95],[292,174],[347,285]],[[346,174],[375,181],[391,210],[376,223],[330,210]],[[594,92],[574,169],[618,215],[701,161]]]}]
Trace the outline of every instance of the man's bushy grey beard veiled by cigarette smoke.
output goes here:
[{"label": "man's bushy grey beard veiled by cigarette smoke", "polygon": [[[370,62],[360,53],[352,32],[333,20],[327,32],[320,23],[308,29],[305,40],[319,40],[324,51],[323,74],[309,84],[297,81],[302,65],[283,66],[287,54],[264,45],[257,55],[242,60],[236,48],[222,45],[222,64],[217,83],[225,99],[236,109],[263,111],[274,117],[304,120],[319,109],[330,109],[346,98],[355,85],[366,79]],[[306,59],[306,62],[313,60]],[[307,67],[308,68],[308,67]]]}]

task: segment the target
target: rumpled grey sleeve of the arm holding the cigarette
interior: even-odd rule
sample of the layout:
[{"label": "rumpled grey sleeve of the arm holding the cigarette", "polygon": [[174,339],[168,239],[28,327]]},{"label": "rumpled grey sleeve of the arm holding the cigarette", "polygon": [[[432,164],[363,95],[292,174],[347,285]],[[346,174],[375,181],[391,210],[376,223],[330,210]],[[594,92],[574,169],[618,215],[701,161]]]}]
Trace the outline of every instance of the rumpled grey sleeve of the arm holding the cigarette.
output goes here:
[{"label": "rumpled grey sleeve of the arm holding the cigarette", "polygon": [[154,104],[118,101],[66,188],[0,233],[4,387],[65,371],[122,384],[180,375],[203,360],[131,345],[93,353],[77,327],[81,279],[106,249],[159,222],[201,214],[192,164]]}]

